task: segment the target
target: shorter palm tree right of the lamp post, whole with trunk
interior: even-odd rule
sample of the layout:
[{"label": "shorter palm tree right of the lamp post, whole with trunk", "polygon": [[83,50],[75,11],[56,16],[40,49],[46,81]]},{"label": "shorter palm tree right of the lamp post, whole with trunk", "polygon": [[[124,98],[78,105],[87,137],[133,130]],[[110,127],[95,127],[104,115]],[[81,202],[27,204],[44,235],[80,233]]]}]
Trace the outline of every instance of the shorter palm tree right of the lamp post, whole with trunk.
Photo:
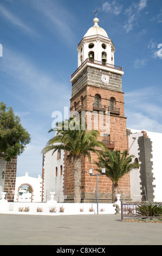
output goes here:
[{"label": "shorter palm tree right of the lamp post, whole with trunk", "polygon": [[121,154],[120,150],[105,151],[99,156],[99,162],[96,163],[99,172],[101,168],[106,169],[106,175],[112,181],[112,203],[116,202],[116,194],[119,193],[118,182],[126,173],[133,168],[138,168],[138,163],[132,162],[134,155],[128,156],[128,151],[124,150]]}]

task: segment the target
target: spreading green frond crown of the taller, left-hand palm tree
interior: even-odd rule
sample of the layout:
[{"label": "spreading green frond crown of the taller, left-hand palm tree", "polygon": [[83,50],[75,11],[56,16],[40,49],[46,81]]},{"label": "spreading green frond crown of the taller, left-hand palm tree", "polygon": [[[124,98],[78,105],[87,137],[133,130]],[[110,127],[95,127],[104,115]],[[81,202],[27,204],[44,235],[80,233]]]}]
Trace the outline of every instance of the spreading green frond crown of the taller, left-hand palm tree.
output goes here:
[{"label": "spreading green frond crown of the taller, left-hand palm tree", "polygon": [[[69,124],[70,127],[68,126]],[[72,129],[73,125],[79,127],[79,129]],[[78,123],[76,118],[66,120],[62,123],[56,123],[56,127],[49,130],[49,132],[55,131],[55,136],[49,139],[42,153],[45,154],[50,150],[53,150],[54,153],[57,149],[63,149],[69,152],[70,157],[88,156],[89,161],[91,160],[90,152],[100,155],[96,147],[100,147],[103,150],[106,149],[105,145],[98,141],[100,133],[94,130],[82,130],[81,128],[81,120]]]}]

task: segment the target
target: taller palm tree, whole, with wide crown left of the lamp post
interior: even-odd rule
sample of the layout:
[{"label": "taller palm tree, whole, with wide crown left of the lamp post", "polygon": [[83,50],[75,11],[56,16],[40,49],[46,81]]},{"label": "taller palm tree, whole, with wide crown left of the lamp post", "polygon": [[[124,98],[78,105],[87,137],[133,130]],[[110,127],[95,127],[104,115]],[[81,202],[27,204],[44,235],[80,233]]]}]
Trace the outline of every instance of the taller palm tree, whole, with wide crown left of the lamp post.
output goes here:
[{"label": "taller palm tree, whole, with wide crown left of the lamp post", "polygon": [[[72,123],[70,123],[72,121]],[[43,149],[42,153],[46,153],[53,150],[53,154],[56,150],[63,149],[68,152],[69,161],[73,158],[74,161],[74,203],[81,202],[81,157],[88,156],[89,162],[91,162],[90,152],[100,154],[100,151],[96,147],[106,149],[105,145],[98,141],[100,133],[98,131],[86,131],[81,129],[80,124],[74,119],[70,119],[60,124],[56,124],[56,129],[51,129],[51,131],[56,131],[56,135],[51,138],[46,147]],[[74,127],[75,125],[75,127]],[[76,129],[77,128],[77,129]]]}]

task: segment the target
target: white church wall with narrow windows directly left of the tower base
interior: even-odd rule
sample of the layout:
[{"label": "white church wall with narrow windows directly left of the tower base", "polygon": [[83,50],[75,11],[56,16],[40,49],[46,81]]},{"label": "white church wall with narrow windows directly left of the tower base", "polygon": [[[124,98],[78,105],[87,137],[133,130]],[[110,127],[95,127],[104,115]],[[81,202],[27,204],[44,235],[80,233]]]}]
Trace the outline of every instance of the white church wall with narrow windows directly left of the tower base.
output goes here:
[{"label": "white church wall with narrow windows directly left of the tower base", "polygon": [[[63,150],[61,150],[61,158],[57,160],[57,151],[52,155],[52,151],[49,151],[44,155],[44,185],[43,185],[43,202],[46,202],[50,198],[49,192],[55,192],[55,200],[57,202],[63,202]],[[62,166],[62,175],[61,175]],[[56,176],[57,167],[57,176]]]}]

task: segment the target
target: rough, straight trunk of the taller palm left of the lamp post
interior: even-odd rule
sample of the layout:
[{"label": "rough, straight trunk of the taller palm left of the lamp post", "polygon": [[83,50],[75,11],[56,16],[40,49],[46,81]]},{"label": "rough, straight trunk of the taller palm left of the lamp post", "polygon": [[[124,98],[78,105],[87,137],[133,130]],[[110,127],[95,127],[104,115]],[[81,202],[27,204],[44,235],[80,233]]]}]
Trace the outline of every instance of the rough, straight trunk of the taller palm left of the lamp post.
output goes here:
[{"label": "rough, straight trunk of the taller palm left of the lamp post", "polygon": [[74,157],[74,203],[81,202],[81,159]]}]

